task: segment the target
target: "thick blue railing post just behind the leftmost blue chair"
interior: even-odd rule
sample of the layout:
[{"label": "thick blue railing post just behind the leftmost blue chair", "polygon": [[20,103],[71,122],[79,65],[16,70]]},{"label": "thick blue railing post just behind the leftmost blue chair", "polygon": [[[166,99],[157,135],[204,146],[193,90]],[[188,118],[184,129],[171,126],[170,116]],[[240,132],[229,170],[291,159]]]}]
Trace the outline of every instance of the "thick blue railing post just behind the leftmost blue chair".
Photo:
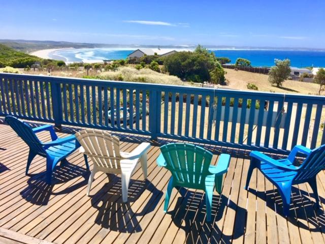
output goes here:
[{"label": "thick blue railing post just behind the leftmost blue chair", "polygon": [[51,101],[54,125],[60,129],[62,124],[62,98],[60,83],[53,81],[51,82]]}]

